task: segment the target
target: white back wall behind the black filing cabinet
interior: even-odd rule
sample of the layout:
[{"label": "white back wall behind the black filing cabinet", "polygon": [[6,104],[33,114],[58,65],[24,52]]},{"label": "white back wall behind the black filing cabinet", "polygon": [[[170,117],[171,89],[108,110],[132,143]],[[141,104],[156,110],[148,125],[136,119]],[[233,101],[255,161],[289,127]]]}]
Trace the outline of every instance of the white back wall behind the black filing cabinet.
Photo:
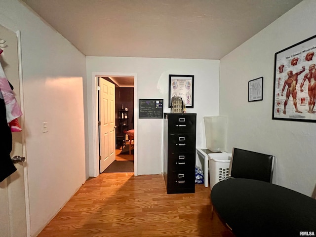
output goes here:
[{"label": "white back wall behind the black filing cabinet", "polygon": [[[164,112],[168,108],[169,74],[194,75],[194,108],[187,113],[197,113],[197,147],[205,147],[203,116],[218,115],[219,61],[163,58],[86,57],[89,143],[94,129],[92,124],[92,73],[113,72],[137,75],[138,99],[164,99]],[[111,74],[111,73],[110,73]],[[162,173],[163,119],[137,119],[137,174]],[[90,158],[94,159],[89,146]],[[90,162],[91,163],[91,162]],[[90,166],[90,174],[93,174]]]}]

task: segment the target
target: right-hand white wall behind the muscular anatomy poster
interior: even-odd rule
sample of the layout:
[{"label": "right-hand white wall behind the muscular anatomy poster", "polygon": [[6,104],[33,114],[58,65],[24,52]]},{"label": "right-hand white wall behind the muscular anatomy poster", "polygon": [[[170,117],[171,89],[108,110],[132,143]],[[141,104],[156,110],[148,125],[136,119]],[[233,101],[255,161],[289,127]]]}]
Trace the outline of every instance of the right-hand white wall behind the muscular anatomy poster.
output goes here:
[{"label": "right-hand white wall behind the muscular anatomy poster", "polygon": [[[227,149],[272,154],[274,183],[311,196],[316,186],[316,123],[272,120],[275,53],[316,34],[316,1],[304,0],[221,59],[220,115]],[[248,81],[264,77],[263,101],[247,102]],[[299,81],[300,83],[300,81]]]}]

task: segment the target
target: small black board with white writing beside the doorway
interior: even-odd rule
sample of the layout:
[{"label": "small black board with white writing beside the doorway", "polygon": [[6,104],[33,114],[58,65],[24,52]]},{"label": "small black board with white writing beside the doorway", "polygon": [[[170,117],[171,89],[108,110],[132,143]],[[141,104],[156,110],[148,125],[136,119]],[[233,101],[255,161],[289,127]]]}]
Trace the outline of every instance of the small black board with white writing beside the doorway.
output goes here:
[{"label": "small black board with white writing beside the doorway", "polygon": [[138,118],[163,118],[163,99],[139,99]]}]

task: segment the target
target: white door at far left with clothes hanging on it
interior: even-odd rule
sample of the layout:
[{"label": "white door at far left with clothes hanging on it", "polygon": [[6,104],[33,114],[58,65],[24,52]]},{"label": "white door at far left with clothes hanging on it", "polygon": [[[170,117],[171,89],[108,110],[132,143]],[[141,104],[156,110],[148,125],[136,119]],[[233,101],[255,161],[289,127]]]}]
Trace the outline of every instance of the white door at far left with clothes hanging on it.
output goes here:
[{"label": "white door at far left with clothes hanging on it", "polygon": [[[0,41],[0,48],[3,50],[0,55],[1,65],[6,78],[14,87],[15,98],[20,102],[18,61],[20,53],[18,53],[17,34],[0,25],[0,38],[2,40]],[[6,41],[1,44],[4,40]],[[19,122],[23,129],[21,118],[19,118]],[[23,132],[13,132],[12,143],[11,158],[14,156],[24,157]],[[27,236],[26,186],[24,182],[26,162],[16,163],[15,167],[17,171],[0,182],[0,237]]]}]

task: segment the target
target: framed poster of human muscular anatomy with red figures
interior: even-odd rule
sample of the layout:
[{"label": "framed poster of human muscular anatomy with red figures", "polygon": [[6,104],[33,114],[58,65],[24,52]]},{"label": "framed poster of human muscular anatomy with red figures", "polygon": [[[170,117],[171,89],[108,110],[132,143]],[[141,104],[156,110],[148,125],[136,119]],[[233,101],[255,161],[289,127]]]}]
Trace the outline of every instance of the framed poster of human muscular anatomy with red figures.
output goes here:
[{"label": "framed poster of human muscular anatomy with red figures", "polygon": [[275,53],[272,119],[316,122],[316,36]]}]

